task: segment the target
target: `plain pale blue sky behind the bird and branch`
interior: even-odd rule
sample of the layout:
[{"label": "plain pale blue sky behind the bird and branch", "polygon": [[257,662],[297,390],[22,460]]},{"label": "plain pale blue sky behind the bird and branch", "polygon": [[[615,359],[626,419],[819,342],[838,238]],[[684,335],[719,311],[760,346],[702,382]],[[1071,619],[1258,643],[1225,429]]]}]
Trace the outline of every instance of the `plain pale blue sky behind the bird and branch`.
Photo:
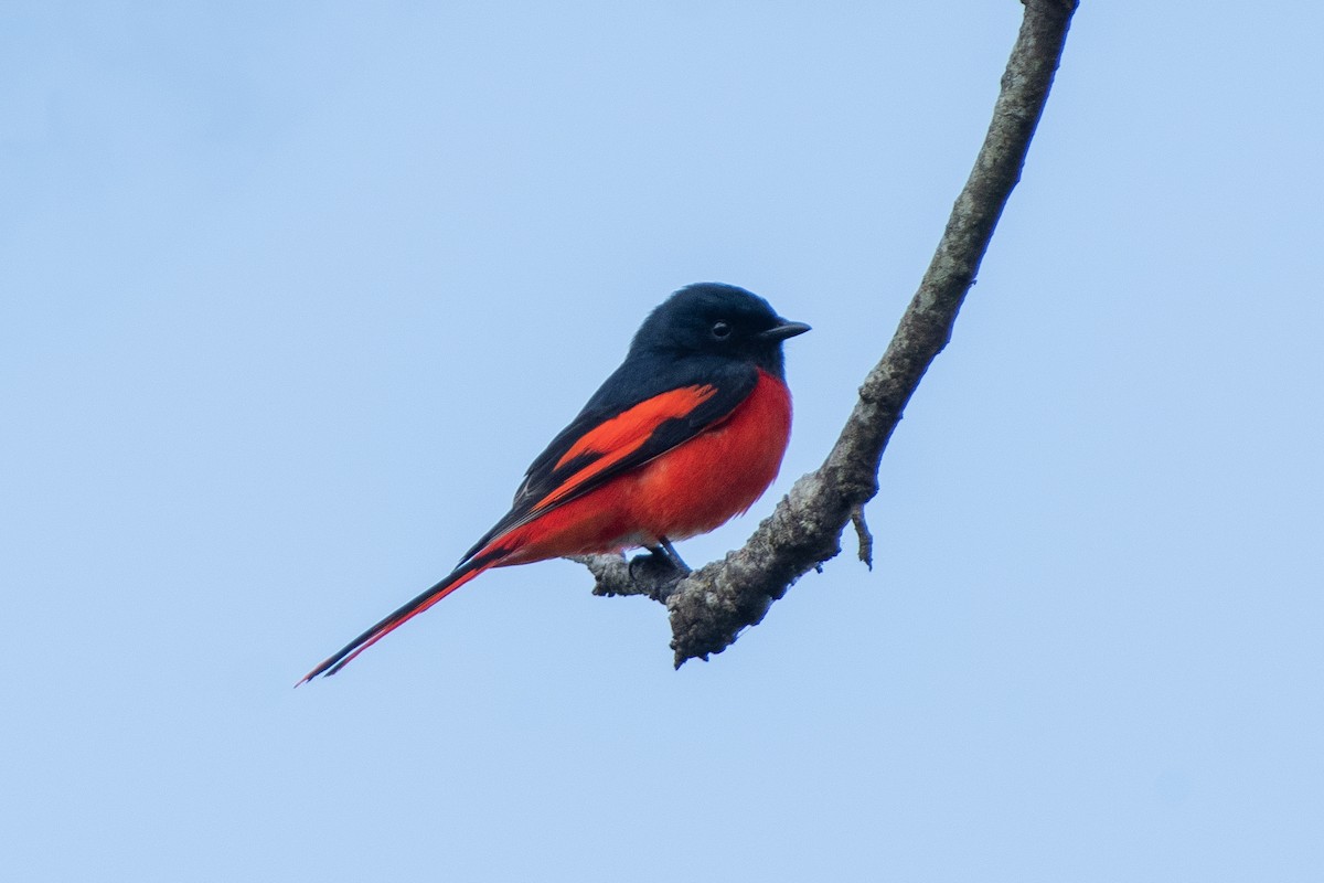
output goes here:
[{"label": "plain pale blue sky behind the bird and branch", "polygon": [[1324,879],[1317,4],[1087,0],[847,553],[708,663],[444,575],[669,291],[828,451],[1021,17],[0,9],[15,880]]}]

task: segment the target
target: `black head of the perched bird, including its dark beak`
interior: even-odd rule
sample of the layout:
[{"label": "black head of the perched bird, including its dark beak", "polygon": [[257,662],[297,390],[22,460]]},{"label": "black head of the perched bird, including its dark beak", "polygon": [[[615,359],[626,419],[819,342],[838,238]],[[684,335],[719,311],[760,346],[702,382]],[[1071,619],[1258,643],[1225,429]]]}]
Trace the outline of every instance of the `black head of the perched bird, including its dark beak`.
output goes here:
[{"label": "black head of the perched bird, including its dark beak", "polygon": [[699,282],[662,302],[634,335],[630,353],[703,353],[752,361],[782,376],[781,342],[809,331],[733,285]]}]

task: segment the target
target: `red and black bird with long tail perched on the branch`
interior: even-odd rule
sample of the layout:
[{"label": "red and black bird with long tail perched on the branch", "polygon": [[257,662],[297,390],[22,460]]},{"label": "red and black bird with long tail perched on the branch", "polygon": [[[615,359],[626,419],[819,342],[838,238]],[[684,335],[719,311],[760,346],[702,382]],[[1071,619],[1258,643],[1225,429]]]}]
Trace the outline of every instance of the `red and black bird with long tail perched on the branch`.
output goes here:
[{"label": "red and black bird with long tail perched on the branch", "polygon": [[743,514],[777,477],[792,416],[782,342],[809,330],[733,285],[674,291],[455,569],[295,686],[336,674],[491,568],[642,548],[687,572],[673,541]]}]

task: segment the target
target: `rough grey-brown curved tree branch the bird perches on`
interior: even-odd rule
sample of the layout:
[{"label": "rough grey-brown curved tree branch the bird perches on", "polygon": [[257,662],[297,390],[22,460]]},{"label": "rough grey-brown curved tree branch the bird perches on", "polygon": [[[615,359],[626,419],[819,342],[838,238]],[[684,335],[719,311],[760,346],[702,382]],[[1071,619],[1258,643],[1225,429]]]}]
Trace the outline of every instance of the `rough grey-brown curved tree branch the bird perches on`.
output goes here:
[{"label": "rough grey-brown curved tree branch the bird perches on", "polygon": [[906,404],[952,335],[980,261],[1021,168],[1053,85],[1078,0],[1023,0],[1025,19],[993,106],[974,169],[956,199],[919,290],[882,360],[865,377],[841,437],[804,475],[745,545],[682,577],[636,572],[621,556],[577,559],[593,572],[594,594],[646,594],[666,604],[675,665],[722,653],[756,625],[773,601],[841,551],[854,522],[869,553],[863,506],[878,492],[878,465]]}]

